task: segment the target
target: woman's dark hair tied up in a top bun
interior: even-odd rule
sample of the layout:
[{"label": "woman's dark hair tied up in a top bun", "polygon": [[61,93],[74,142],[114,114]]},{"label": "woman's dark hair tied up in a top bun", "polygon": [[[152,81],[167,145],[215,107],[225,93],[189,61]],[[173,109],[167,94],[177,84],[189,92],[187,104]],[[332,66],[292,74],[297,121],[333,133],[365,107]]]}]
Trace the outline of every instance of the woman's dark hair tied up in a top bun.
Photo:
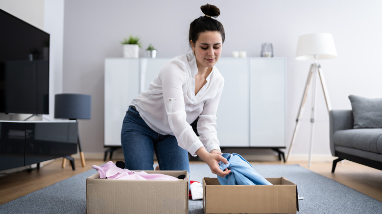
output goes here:
[{"label": "woman's dark hair tied up in a top bun", "polygon": [[211,18],[216,18],[220,15],[219,8],[217,8],[215,5],[206,4],[201,6],[200,9],[205,16],[201,16],[191,22],[189,32],[190,46],[190,41],[195,43],[198,40],[200,33],[206,31],[218,31],[221,34],[222,43],[224,43],[225,33],[223,25],[220,23],[220,21]]}]

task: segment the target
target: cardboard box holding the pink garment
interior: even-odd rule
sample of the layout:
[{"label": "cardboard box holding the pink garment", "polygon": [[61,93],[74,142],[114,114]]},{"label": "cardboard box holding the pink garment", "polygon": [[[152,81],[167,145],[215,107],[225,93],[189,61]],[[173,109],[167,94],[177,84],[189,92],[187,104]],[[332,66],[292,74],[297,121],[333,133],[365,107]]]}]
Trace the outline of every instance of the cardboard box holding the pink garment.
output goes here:
[{"label": "cardboard box holding the pink garment", "polygon": [[99,173],[86,178],[86,213],[88,214],[188,214],[189,174],[187,171],[146,171],[184,180],[113,180],[101,179]]}]

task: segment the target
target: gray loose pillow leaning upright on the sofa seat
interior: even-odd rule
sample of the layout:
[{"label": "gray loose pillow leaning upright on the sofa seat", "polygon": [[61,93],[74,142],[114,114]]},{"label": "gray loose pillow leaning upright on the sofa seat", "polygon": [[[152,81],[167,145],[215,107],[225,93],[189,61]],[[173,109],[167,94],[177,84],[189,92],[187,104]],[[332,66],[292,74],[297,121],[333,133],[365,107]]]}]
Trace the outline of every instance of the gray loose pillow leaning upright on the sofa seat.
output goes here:
[{"label": "gray loose pillow leaning upright on the sofa seat", "polygon": [[382,128],[382,98],[349,95],[354,128]]}]

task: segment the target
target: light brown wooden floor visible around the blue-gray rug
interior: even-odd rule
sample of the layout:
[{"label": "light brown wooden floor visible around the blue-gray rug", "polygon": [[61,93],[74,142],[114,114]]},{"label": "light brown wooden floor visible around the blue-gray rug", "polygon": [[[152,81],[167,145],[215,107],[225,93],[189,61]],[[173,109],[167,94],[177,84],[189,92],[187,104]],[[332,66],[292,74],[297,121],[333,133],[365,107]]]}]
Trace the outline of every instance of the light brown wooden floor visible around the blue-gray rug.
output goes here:
[{"label": "light brown wooden floor visible around the blue-gray rug", "polygon": [[[67,165],[61,168],[62,159],[45,162],[40,170],[20,171],[0,176],[0,204],[4,204],[28,193],[40,190],[56,182],[69,178],[75,174],[92,169],[92,165],[102,165],[102,160],[86,160],[86,167],[81,166],[80,160],[75,160],[76,170]],[[193,161],[192,163],[203,163]],[[274,162],[252,162],[251,164],[284,164]],[[364,193],[382,201],[382,171],[349,161],[337,164],[335,173],[331,173],[332,162],[312,162],[308,168],[307,162],[292,162],[286,164],[299,164],[311,171],[331,178],[358,192]],[[96,172],[96,171],[95,171]]]}]

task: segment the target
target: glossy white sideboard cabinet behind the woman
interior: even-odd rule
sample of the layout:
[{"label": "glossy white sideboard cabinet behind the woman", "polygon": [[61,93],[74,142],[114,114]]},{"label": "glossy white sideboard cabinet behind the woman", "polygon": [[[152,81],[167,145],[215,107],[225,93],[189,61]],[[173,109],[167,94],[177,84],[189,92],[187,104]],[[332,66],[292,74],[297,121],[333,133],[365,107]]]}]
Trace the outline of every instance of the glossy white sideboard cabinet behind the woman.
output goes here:
[{"label": "glossy white sideboard cabinet behind the woman", "polygon": [[[168,60],[105,60],[105,147],[120,146],[131,100],[148,88]],[[216,67],[225,79],[217,112],[220,146],[285,148],[286,59],[222,57]]]}]

